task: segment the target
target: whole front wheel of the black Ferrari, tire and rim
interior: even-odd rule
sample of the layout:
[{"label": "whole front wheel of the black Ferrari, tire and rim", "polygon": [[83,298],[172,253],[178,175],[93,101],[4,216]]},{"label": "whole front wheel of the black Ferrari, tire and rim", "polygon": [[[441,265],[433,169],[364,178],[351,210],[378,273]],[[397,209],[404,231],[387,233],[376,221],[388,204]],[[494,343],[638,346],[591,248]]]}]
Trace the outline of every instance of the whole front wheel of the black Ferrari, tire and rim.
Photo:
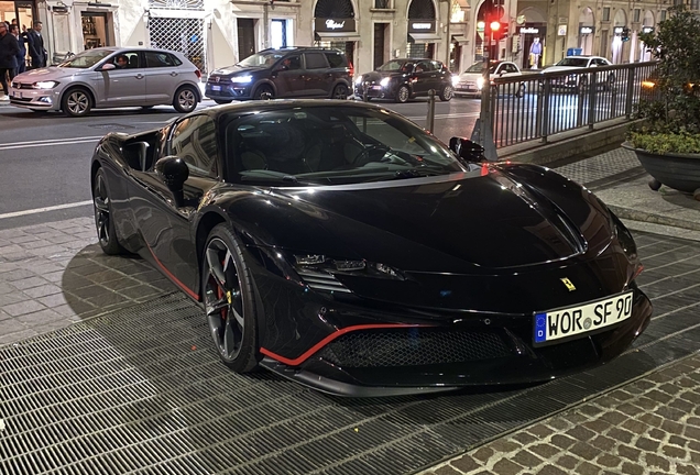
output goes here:
[{"label": "whole front wheel of the black Ferrari, tire and rim", "polygon": [[209,331],[219,357],[237,373],[254,369],[258,317],[250,270],[228,224],[217,224],[205,246],[201,289]]}]

